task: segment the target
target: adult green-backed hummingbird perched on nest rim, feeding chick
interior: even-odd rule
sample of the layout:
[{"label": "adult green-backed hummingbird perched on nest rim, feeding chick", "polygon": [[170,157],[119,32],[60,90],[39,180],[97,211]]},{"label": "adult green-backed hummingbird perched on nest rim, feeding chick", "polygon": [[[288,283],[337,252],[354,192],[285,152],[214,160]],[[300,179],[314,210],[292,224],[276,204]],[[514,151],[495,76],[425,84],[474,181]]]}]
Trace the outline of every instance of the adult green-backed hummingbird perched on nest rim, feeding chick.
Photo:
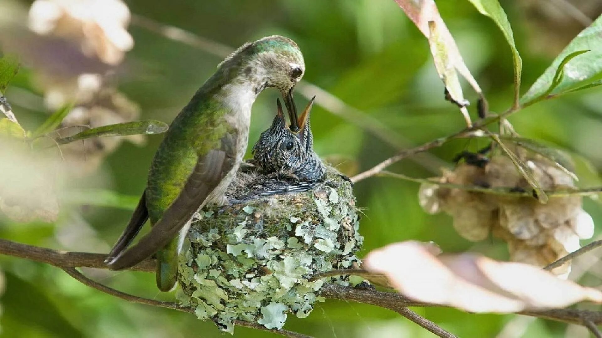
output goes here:
[{"label": "adult green-backed hummingbird perched on nest rim, feeding chick", "polygon": [[[152,160],[138,206],[105,261],[125,269],[157,255],[157,286],[173,289],[178,254],[194,212],[226,203],[224,193],[243,160],[251,106],[265,88],[277,88],[297,132],[293,88],[305,72],[296,43],[278,35],[246,43],[217,66],[178,116]],[[146,220],[151,231],[126,250]],[[179,233],[179,236],[178,236]]]}]

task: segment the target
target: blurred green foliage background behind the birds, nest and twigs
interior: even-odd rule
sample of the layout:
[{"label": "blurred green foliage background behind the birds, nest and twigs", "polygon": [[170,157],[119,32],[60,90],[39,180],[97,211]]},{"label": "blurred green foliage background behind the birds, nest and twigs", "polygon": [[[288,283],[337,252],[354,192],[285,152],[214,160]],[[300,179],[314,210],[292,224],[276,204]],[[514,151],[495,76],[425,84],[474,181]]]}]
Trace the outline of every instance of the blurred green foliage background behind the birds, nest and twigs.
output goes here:
[{"label": "blurred green foliage background behind the birds, nest and twigs", "polygon": [[[186,29],[232,48],[266,35],[292,38],[305,55],[303,79],[382,123],[400,147],[452,134],[464,126],[458,110],[443,99],[443,87],[426,39],[393,0],[125,2],[132,14]],[[562,6],[555,7],[557,1],[500,2],[523,57],[523,92],[563,46],[585,28],[586,17],[595,19],[602,11],[597,0],[575,1],[585,17],[576,17]],[[12,13],[9,8],[11,11],[20,8],[26,13],[30,4],[31,1],[2,0],[0,13]],[[512,99],[513,71],[510,49],[503,35],[468,1],[437,4],[465,62],[486,93],[490,109],[504,111]],[[119,67],[119,90],[140,106],[140,118],[169,123],[222,58],[140,25],[132,24],[129,32],[135,47]],[[34,85],[35,75],[36,68],[24,64],[5,93],[15,114],[29,129],[48,116],[41,103],[42,93]],[[468,87],[466,93],[471,102],[476,102]],[[589,159],[593,168],[579,172],[580,186],[600,184],[597,173],[602,168],[601,93],[602,90],[593,89],[567,95],[534,105],[510,119],[524,137],[547,141]],[[256,100],[250,140],[256,140],[267,128],[277,96],[275,90],[267,90]],[[306,102],[297,94],[298,106],[305,106]],[[474,106],[470,110],[476,118]],[[360,126],[318,106],[312,111],[312,129],[318,154],[343,156],[347,164],[356,163],[360,170],[370,168],[397,150]],[[161,135],[148,137],[144,146],[120,144],[104,158],[98,170],[81,179],[81,185],[111,189],[123,195],[140,194],[161,139]],[[430,155],[417,156],[416,161],[400,162],[391,170],[415,177],[435,176],[440,165],[452,166],[450,162],[456,153],[485,145],[484,140],[454,141]],[[361,222],[364,250],[360,256],[391,242],[415,239],[434,241],[444,252],[475,251],[507,259],[503,242],[468,242],[453,230],[446,215],[427,215],[418,205],[417,189],[417,183],[382,177],[372,177],[355,186],[358,205],[365,213]],[[602,224],[602,206],[592,199],[584,203],[595,223]],[[0,238],[64,250],[107,252],[131,212],[93,205],[63,206],[56,224],[0,221]],[[90,289],[52,266],[8,257],[0,257],[0,265],[6,279],[5,292],[0,298],[2,337],[222,336],[211,322],[198,321],[187,313],[129,304]],[[582,283],[598,286],[602,277],[600,268],[587,270]],[[152,274],[88,269],[84,272],[125,292],[155,299],[172,297],[156,290]],[[452,309],[415,310],[459,337],[588,337],[582,328],[539,319],[470,315]],[[433,336],[396,313],[346,301],[317,304],[306,319],[289,316],[285,328],[316,337]],[[242,327],[236,328],[236,335],[273,336]]]}]

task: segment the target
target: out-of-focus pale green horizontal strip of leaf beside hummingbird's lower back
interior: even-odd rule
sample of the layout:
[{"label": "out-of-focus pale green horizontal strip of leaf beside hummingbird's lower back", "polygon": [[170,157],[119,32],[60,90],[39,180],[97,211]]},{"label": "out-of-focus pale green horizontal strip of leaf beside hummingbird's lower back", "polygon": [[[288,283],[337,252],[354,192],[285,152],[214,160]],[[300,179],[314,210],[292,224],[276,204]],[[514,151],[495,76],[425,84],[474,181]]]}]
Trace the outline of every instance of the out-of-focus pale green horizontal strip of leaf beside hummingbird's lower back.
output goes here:
[{"label": "out-of-focus pale green horizontal strip of leaf beside hummingbird's lower back", "polygon": [[134,210],[138,205],[138,200],[140,200],[140,196],[123,195],[105,189],[70,190],[61,196],[61,201],[69,204],[87,204],[127,210]]}]

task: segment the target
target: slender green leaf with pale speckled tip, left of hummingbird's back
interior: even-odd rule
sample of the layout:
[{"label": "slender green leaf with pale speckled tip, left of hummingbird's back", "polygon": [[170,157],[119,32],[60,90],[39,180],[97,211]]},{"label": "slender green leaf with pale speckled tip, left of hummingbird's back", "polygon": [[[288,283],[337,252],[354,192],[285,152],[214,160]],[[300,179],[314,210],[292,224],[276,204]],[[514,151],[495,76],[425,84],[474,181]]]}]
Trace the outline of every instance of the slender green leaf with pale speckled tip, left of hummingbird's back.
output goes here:
[{"label": "slender green leaf with pale speckled tip, left of hummingbird's back", "polygon": [[59,138],[58,144],[71,143],[73,141],[84,140],[91,137],[110,137],[110,136],[128,136],[128,135],[154,135],[167,131],[167,123],[155,120],[144,120],[109,124],[98,128],[91,128],[87,131],[79,132],[73,136]]}]

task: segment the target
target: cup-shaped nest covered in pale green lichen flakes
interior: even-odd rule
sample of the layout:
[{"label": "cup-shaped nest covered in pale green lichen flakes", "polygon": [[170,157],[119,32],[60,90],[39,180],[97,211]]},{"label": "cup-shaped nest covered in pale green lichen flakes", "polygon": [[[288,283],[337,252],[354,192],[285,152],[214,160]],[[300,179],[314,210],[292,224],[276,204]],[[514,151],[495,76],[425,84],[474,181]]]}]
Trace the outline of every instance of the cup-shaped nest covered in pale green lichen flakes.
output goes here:
[{"label": "cup-shaped nest covered in pale green lichen flakes", "polygon": [[235,319],[282,328],[321,300],[312,275],[359,264],[358,227],[352,186],[334,168],[306,192],[205,207],[182,250],[178,299],[224,331]]}]

